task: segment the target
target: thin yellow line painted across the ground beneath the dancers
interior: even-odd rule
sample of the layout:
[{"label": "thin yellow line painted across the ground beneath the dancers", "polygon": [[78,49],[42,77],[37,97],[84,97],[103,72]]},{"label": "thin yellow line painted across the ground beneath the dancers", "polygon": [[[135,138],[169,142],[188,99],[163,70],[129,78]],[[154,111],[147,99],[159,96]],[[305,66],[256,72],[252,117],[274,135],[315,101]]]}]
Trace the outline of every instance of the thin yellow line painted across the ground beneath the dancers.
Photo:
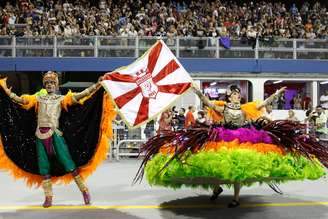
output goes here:
[{"label": "thin yellow line painted across the ground beneath the dancers", "polygon": [[[328,205],[328,202],[286,202],[286,203],[244,203],[239,208],[254,207],[300,207],[300,206],[321,206]],[[191,208],[226,208],[223,204],[186,204],[186,205],[91,205],[91,206],[63,206],[55,205],[50,208],[42,206],[0,206],[0,210],[107,210],[107,209],[191,209]]]}]

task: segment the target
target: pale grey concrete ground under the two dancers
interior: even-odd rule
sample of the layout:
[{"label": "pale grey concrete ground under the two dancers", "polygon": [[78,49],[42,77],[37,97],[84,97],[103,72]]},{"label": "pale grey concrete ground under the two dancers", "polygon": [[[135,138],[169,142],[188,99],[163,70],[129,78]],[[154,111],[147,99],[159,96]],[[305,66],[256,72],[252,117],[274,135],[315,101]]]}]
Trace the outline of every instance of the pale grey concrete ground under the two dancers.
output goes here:
[{"label": "pale grey concrete ground under the two dancers", "polygon": [[150,187],[144,180],[132,186],[140,161],[104,162],[88,179],[92,206],[82,206],[74,183],[54,186],[55,207],[43,209],[41,189],[28,189],[0,172],[0,219],[2,218],[298,218],[328,219],[328,182],[283,184],[283,195],[267,185],[242,188],[239,208],[228,209],[232,190],[226,189],[216,202],[210,191],[172,190]]}]

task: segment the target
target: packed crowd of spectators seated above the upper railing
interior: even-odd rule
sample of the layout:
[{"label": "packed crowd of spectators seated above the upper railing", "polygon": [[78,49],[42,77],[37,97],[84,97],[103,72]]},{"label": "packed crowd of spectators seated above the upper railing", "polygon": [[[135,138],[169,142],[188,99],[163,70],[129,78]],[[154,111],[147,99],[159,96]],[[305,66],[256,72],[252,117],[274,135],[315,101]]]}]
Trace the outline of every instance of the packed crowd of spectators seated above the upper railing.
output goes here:
[{"label": "packed crowd of spectators seated above the upper railing", "polygon": [[319,2],[3,1],[0,35],[328,39],[328,12]]}]

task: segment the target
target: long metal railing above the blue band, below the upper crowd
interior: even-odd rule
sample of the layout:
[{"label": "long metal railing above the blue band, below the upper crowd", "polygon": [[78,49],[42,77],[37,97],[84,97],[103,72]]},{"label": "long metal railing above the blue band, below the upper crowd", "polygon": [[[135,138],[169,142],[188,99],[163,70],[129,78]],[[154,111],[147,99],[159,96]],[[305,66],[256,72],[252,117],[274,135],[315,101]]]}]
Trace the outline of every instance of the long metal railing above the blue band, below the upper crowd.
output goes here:
[{"label": "long metal railing above the blue band, below the upper crowd", "polygon": [[[0,57],[139,57],[158,37],[0,37]],[[327,40],[232,39],[231,48],[213,37],[162,38],[178,58],[328,59]]]}]

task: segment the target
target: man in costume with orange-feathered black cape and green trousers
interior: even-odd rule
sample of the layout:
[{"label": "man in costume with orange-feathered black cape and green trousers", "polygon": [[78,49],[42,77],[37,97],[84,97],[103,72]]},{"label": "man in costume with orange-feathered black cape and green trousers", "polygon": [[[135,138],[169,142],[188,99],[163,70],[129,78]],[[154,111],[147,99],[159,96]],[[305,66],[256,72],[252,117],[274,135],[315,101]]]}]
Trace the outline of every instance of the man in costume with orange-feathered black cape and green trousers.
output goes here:
[{"label": "man in costume with orange-feathered black cape and green trousers", "polygon": [[42,185],[45,208],[52,206],[52,182],[71,180],[89,205],[83,179],[106,156],[109,123],[115,114],[100,82],[66,96],[56,94],[58,75],[53,71],[43,77],[47,94],[19,97],[7,88],[5,79],[0,85],[4,91],[0,96],[0,168],[25,178],[28,185]]}]

